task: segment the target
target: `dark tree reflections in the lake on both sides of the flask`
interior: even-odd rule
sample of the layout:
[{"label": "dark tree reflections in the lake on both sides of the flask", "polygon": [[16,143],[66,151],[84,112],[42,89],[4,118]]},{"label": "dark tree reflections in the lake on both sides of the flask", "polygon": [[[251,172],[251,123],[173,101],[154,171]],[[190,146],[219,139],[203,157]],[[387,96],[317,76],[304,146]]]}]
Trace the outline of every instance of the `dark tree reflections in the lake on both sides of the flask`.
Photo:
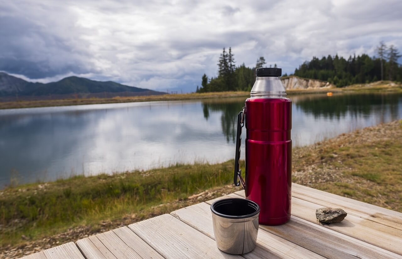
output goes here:
[{"label": "dark tree reflections in the lake on both sides of the flask", "polygon": [[[315,118],[324,116],[340,120],[347,112],[351,116],[369,115],[375,112],[381,122],[390,116],[398,119],[398,106],[402,105],[402,94],[335,94],[334,96],[300,95],[290,96],[297,108]],[[212,112],[221,112],[222,132],[228,143],[236,141],[237,114],[244,106],[245,98],[205,100],[202,102],[204,118]],[[388,110],[389,109],[389,110]],[[388,115],[389,114],[389,115]]]}]

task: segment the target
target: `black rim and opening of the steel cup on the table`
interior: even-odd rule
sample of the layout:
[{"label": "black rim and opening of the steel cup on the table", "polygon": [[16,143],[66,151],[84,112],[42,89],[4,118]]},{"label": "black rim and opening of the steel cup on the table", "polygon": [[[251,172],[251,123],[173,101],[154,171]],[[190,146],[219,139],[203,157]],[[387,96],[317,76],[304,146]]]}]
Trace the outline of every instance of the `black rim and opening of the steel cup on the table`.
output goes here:
[{"label": "black rim and opening of the steel cup on the table", "polygon": [[247,199],[227,198],[211,204],[211,211],[223,218],[250,218],[260,213],[260,206]]}]

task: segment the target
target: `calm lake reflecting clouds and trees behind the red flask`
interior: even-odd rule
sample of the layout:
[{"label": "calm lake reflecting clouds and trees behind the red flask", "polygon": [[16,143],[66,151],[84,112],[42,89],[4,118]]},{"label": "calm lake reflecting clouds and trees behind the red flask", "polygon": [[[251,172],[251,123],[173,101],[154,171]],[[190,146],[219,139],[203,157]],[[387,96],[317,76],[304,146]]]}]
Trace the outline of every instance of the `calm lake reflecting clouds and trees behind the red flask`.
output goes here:
[{"label": "calm lake reflecting clouds and trees behind the red flask", "polygon": [[[293,147],[402,118],[402,94],[289,98]],[[245,99],[0,110],[0,188],[234,159],[237,114]]]}]

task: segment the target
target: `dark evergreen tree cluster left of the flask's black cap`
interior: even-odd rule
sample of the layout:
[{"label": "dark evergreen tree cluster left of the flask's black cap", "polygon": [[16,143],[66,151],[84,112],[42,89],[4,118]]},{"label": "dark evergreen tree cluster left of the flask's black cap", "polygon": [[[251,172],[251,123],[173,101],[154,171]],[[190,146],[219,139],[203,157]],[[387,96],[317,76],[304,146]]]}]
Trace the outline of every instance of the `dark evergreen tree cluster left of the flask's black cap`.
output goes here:
[{"label": "dark evergreen tree cluster left of the flask's black cap", "polygon": [[[236,66],[235,63],[232,48],[229,47],[229,51],[224,48],[217,64],[217,77],[208,78],[204,74],[201,79],[201,87],[197,86],[197,93],[250,91],[255,82],[255,69],[266,64],[265,58],[259,57],[255,67],[246,67],[244,63]],[[274,67],[277,65],[275,64]]]}]

